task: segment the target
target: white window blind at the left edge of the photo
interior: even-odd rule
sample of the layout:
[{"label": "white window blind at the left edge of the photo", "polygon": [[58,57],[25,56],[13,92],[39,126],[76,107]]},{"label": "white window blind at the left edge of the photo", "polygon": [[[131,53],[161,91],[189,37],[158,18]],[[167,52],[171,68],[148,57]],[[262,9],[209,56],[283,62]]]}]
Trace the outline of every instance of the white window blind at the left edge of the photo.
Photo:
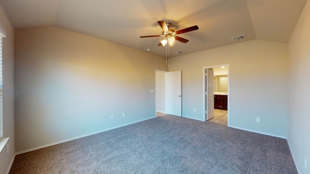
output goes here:
[{"label": "white window blind at the left edge of the photo", "polygon": [[3,139],[2,34],[0,33],[0,140]]}]

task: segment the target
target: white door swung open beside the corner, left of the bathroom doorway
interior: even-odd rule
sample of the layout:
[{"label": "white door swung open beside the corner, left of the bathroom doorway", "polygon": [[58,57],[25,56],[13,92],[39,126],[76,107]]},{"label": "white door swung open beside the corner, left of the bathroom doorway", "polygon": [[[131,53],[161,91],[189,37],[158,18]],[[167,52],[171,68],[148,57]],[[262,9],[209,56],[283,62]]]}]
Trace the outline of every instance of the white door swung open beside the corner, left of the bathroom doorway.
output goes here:
[{"label": "white door swung open beside the corner, left of the bathroom doorway", "polygon": [[166,73],[166,112],[182,116],[181,71]]}]

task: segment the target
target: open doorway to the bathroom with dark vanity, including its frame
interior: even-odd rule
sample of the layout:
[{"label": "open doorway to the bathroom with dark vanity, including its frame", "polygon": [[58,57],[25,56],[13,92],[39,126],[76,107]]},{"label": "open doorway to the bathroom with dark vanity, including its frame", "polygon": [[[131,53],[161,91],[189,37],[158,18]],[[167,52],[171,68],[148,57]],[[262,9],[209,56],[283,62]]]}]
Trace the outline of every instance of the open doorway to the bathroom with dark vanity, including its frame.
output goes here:
[{"label": "open doorway to the bathroom with dark vanity, including its frame", "polygon": [[204,120],[230,126],[229,64],[203,67]]}]

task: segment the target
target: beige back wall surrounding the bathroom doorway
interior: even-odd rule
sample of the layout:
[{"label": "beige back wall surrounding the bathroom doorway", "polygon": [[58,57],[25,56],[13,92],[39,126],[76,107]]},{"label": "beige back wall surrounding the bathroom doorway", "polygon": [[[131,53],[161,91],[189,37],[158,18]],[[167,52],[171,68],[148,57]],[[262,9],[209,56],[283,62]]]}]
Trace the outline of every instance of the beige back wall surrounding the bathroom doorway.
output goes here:
[{"label": "beige back wall surrounding the bathroom doorway", "polygon": [[[202,68],[223,64],[230,64],[230,125],[286,137],[285,43],[251,40],[171,58],[169,71],[182,71],[182,115],[204,119]],[[261,123],[255,122],[256,117]]]}]

